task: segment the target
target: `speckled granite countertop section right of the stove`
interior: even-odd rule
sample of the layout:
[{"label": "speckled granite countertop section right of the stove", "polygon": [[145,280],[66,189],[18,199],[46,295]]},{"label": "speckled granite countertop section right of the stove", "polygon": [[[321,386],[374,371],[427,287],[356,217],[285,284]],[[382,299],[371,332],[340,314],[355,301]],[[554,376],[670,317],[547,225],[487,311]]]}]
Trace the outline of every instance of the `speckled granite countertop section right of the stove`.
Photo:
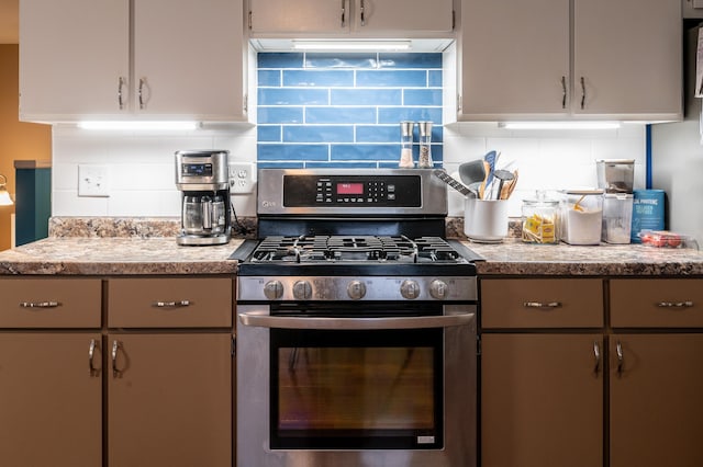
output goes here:
[{"label": "speckled granite countertop section right of the stove", "polygon": [[703,275],[703,252],[641,244],[529,244],[517,239],[464,244],[486,259],[479,275]]}]

